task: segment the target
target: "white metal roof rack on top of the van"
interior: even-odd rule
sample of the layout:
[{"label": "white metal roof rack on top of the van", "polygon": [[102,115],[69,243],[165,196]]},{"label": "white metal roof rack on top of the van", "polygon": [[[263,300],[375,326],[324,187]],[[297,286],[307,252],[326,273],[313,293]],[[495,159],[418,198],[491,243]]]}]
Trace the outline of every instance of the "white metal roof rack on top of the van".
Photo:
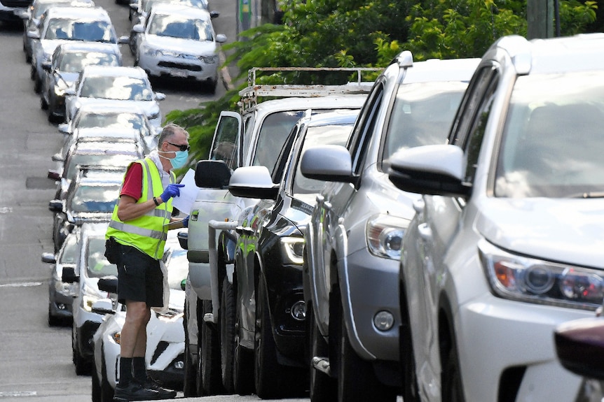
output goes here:
[{"label": "white metal roof rack on top of the van", "polygon": [[[299,84],[256,84],[257,72],[293,72],[304,71],[315,73],[318,71],[348,72],[356,73],[355,82],[347,82],[343,85],[299,85]],[[365,71],[383,71],[381,68],[373,67],[254,67],[247,71],[247,87],[240,90],[241,100],[239,106],[242,111],[253,108],[258,103],[259,96],[273,97],[317,97],[327,95],[366,94],[373,87],[373,81],[363,81],[362,73]]]}]

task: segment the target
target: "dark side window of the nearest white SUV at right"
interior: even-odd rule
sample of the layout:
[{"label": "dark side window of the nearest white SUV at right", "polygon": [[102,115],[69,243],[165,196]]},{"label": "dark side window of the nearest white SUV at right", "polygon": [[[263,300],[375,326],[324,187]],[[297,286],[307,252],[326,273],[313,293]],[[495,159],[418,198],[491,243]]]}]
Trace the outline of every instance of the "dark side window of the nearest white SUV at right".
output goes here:
[{"label": "dark side window of the nearest white SUV at right", "polygon": [[484,131],[497,89],[497,78],[495,66],[483,67],[477,73],[471,90],[462,100],[458,119],[453,127],[455,131],[451,143],[464,150],[467,161],[464,181],[467,183],[474,180]]}]

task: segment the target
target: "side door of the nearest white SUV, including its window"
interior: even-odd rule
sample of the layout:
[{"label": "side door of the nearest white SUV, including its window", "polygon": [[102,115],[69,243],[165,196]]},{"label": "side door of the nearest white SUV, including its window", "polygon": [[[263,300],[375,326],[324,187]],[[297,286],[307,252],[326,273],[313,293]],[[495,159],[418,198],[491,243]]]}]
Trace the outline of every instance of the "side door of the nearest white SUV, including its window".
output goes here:
[{"label": "side door of the nearest white SUV, including its window", "polygon": [[[449,143],[460,146],[465,152],[465,181],[468,184],[474,180],[498,74],[494,64],[483,64],[477,70],[453,122]],[[423,299],[409,308],[420,388],[421,383],[428,387],[430,383],[440,382],[439,308],[446,279],[451,278],[451,260],[458,251],[455,244],[461,241],[464,231],[472,230],[464,224],[466,215],[471,213],[466,208],[467,202],[469,200],[461,198],[425,195],[423,202],[416,203],[417,215],[413,224],[417,224],[414,230],[419,250],[415,253],[415,264],[409,264],[409,267],[421,269],[418,273],[409,268],[405,275],[416,281],[406,284],[408,299]]]}]

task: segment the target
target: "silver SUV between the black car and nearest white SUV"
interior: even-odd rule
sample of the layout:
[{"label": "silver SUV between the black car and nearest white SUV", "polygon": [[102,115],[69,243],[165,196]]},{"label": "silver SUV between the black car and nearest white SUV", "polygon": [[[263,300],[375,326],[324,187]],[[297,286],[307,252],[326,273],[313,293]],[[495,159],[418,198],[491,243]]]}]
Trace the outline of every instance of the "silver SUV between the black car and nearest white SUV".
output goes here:
[{"label": "silver SUV between the black car and nearest white SUV", "polygon": [[396,399],[400,245],[418,196],[392,185],[388,160],[400,149],[444,143],[478,62],[413,63],[402,52],[373,85],[348,145],[309,148],[302,157],[303,175],[329,181],[304,256],[313,402]]}]

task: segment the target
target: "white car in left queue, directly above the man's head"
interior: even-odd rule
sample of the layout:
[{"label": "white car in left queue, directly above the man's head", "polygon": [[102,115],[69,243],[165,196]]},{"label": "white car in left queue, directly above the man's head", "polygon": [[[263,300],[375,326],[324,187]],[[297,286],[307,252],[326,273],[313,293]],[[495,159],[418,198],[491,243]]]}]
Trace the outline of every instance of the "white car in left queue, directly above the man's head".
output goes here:
[{"label": "white car in left queue, directly above the man's head", "polygon": [[165,94],[153,92],[146,73],[139,67],[86,66],[80,73],[75,87],[65,94],[67,122],[84,105],[116,105],[144,110],[154,127],[160,127],[162,116],[158,101]]}]

